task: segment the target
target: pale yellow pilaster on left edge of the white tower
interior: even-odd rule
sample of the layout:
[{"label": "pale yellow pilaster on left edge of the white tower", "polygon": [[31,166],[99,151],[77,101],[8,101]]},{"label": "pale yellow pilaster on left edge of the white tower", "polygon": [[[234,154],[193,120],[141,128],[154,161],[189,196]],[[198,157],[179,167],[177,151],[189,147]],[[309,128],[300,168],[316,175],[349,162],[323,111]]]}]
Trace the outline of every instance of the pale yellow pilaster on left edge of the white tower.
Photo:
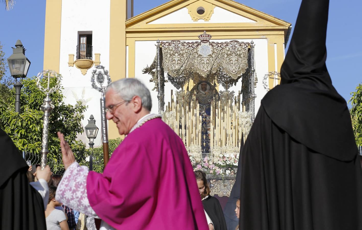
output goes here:
[{"label": "pale yellow pilaster on left edge of the white tower", "polygon": [[62,0],[47,0],[45,8],[44,70],[59,73]]}]

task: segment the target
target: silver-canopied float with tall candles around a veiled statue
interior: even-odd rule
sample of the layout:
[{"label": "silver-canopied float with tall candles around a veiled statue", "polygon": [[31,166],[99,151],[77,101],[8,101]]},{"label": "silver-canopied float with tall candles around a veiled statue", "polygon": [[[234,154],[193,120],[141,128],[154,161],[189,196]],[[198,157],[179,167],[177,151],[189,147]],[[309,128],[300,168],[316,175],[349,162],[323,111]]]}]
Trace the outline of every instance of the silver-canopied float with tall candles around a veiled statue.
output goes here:
[{"label": "silver-canopied float with tall candles around a veiled statue", "polygon": [[[203,165],[205,157],[210,163],[221,153],[239,156],[241,138],[247,137],[255,117],[257,76],[253,41],[212,42],[206,31],[198,37],[200,41],[195,42],[157,40],[156,57],[143,73],[152,76],[159,113],[184,142],[190,159],[193,158],[191,163]],[[240,90],[230,91],[240,80]],[[165,108],[167,82],[180,90],[171,90],[171,101]],[[219,91],[219,85],[225,91]],[[235,175],[223,178],[231,180],[226,186],[231,190]]]}]

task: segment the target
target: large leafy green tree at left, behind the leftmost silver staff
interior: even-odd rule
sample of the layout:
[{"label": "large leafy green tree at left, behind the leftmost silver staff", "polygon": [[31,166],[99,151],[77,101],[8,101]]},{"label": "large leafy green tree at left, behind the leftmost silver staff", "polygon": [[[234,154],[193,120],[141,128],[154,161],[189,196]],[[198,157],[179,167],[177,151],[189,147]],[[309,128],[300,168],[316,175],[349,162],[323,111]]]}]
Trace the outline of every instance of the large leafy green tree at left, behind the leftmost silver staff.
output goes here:
[{"label": "large leafy green tree at left, behind the leftmost silver staff", "polygon": [[[50,78],[51,87],[55,85],[55,81],[55,78]],[[39,90],[36,83],[35,77],[22,80],[24,86],[21,89],[20,113],[16,113],[14,108],[15,88],[10,90],[12,97],[0,104],[0,124],[20,151],[25,150],[39,158],[43,129],[41,105],[45,94]],[[46,86],[47,79],[43,78],[41,84]],[[56,135],[57,131],[61,131],[70,144],[76,160],[80,162],[87,155],[85,144],[82,141],[76,141],[76,135],[84,132],[81,120],[84,118],[83,112],[86,106],[81,102],[77,102],[75,106],[65,104],[61,89],[50,95],[54,110],[50,113],[48,159],[52,162],[62,161],[60,142]],[[39,162],[38,160],[36,161]],[[62,170],[63,168],[57,168],[55,171]]]}]

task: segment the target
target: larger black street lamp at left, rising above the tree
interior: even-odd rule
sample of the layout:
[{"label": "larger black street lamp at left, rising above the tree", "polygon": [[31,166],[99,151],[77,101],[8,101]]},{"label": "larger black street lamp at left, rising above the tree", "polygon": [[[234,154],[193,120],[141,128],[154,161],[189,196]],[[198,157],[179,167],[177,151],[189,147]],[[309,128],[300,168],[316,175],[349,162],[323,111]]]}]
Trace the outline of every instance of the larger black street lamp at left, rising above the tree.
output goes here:
[{"label": "larger black street lamp at left, rising above the tree", "polygon": [[8,65],[10,75],[15,78],[15,112],[20,112],[20,89],[23,86],[17,79],[25,78],[28,74],[30,61],[25,57],[25,49],[20,40],[16,41],[15,47],[13,48],[13,54],[8,58]]}]

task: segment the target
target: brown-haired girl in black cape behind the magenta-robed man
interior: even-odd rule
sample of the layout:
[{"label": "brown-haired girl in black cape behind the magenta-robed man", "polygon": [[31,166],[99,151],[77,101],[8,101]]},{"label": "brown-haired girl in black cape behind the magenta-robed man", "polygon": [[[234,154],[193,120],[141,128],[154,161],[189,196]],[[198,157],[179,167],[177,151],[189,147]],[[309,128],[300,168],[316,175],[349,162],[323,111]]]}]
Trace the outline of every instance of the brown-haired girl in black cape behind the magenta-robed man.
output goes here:
[{"label": "brown-haired girl in black cape behind the magenta-robed man", "polygon": [[210,187],[206,180],[206,173],[195,171],[197,187],[199,188],[202,205],[210,217],[215,230],[227,230],[224,213],[217,198],[210,196]]}]

